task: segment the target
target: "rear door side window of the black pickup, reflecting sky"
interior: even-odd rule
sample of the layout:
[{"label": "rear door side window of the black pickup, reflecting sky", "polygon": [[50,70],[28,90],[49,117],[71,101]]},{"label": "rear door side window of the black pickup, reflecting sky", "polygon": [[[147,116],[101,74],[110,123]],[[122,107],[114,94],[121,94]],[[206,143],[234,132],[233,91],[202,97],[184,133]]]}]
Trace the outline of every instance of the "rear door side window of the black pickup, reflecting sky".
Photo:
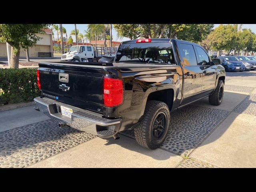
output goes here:
[{"label": "rear door side window of the black pickup, reflecting sky", "polygon": [[180,44],[181,54],[185,65],[197,65],[196,53],[192,45]]}]

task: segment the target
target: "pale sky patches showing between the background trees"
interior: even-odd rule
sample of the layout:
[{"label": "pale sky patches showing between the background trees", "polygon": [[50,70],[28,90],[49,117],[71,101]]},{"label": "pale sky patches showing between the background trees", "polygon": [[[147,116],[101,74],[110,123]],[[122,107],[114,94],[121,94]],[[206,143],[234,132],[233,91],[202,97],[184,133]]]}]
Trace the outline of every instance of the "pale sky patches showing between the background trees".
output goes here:
[{"label": "pale sky patches showing between the background trees", "polygon": [[[220,24],[214,24],[214,28],[218,27]],[[64,28],[66,28],[67,33],[68,33],[68,37],[69,34],[72,30],[74,30],[75,26],[74,24],[62,24],[62,26]],[[76,28],[79,29],[79,33],[84,34],[84,30],[87,30],[87,24],[76,24]],[[243,24],[242,28],[250,28],[252,30],[252,32],[256,33],[256,24]],[[54,34],[56,34],[56,32],[54,32]],[[113,40],[114,41],[126,41],[126,40],[130,40],[129,38],[122,38],[122,39],[118,39],[117,38],[117,32],[116,30],[113,28],[112,30],[112,35],[113,35]],[[64,35],[66,36],[66,35]],[[54,38],[57,38],[57,35],[54,36]],[[75,41],[75,36],[72,36],[73,40]]]}]

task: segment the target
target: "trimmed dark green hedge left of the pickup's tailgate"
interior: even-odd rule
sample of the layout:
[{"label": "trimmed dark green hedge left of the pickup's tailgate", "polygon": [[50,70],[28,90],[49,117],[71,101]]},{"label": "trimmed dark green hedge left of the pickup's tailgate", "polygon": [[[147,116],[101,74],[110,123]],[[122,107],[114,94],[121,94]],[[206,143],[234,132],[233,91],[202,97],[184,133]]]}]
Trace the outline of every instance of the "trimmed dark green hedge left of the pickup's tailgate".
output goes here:
[{"label": "trimmed dark green hedge left of the pickup's tailgate", "polygon": [[36,69],[0,69],[0,105],[29,102],[39,95]]}]

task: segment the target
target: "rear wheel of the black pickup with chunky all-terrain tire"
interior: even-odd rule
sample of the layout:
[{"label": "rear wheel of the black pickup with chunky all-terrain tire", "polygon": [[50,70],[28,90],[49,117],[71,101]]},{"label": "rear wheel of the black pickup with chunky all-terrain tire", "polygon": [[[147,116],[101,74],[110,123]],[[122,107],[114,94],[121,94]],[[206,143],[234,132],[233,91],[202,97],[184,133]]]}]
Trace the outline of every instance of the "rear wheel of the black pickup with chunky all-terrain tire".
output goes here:
[{"label": "rear wheel of the black pickup with chunky all-terrain tire", "polygon": [[170,111],[166,103],[148,101],[144,115],[134,128],[135,139],[143,147],[156,149],[166,139],[170,126]]}]

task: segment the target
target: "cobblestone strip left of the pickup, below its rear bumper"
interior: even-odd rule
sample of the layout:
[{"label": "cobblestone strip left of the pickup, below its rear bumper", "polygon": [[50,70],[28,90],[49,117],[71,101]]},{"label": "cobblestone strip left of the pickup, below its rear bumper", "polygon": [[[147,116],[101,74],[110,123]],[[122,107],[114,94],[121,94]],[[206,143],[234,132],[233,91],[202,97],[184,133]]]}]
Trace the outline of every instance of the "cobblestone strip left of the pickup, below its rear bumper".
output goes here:
[{"label": "cobblestone strip left of the pickup, below its rear bumper", "polygon": [[86,142],[96,136],[58,128],[58,120],[0,132],[0,168],[22,168]]}]

